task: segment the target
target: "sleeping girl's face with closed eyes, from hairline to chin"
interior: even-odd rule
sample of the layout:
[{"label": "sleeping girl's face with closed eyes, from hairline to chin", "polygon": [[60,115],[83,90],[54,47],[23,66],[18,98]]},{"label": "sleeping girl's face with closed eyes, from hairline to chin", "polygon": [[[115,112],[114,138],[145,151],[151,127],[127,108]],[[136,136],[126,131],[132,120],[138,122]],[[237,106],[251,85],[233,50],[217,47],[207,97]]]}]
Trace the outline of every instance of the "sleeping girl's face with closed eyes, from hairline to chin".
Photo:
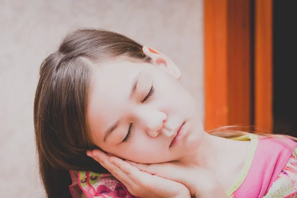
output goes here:
[{"label": "sleeping girl's face with closed eyes, from hairline to chin", "polygon": [[117,60],[94,69],[87,122],[99,148],[140,163],[179,160],[197,150],[198,110],[171,75],[173,66]]}]

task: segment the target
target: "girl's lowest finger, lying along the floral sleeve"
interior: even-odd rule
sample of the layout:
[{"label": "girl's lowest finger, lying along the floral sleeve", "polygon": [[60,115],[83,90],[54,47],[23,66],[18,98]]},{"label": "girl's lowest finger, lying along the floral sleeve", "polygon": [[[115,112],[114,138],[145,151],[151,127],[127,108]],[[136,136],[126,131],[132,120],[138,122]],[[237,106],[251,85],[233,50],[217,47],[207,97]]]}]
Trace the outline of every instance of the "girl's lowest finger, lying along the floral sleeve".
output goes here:
[{"label": "girl's lowest finger, lying along the floral sleeve", "polygon": [[96,161],[98,161],[105,169],[107,169],[116,179],[122,182],[126,187],[134,185],[132,179],[122,171],[119,167],[112,164],[109,161],[109,156],[100,150],[93,150],[92,153],[88,153],[88,155],[93,157]]}]

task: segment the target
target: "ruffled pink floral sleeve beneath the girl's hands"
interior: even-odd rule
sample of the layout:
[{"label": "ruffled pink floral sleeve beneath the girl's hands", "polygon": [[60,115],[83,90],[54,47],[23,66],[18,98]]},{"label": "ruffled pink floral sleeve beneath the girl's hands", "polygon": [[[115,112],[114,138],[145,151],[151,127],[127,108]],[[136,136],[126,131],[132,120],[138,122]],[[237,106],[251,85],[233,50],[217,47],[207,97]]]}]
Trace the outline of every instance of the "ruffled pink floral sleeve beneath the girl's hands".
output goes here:
[{"label": "ruffled pink floral sleeve beneath the girl's hands", "polygon": [[92,171],[70,171],[72,184],[69,186],[73,198],[81,198],[82,193],[88,198],[136,198],[111,174]]}]

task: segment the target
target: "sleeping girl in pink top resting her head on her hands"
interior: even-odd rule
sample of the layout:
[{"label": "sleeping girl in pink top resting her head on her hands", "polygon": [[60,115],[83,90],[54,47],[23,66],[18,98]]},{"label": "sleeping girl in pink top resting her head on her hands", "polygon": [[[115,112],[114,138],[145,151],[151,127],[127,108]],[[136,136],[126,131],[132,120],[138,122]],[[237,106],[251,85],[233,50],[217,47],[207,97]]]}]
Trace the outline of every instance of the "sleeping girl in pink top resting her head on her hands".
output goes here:
[{"label": "sleeping girl in pink top resting her head on her hands", "polygon": [[47,196],[297,197],[294,138],[204,132],[180,78],[123,35],[68,34],[41,65],[34,103]]}]

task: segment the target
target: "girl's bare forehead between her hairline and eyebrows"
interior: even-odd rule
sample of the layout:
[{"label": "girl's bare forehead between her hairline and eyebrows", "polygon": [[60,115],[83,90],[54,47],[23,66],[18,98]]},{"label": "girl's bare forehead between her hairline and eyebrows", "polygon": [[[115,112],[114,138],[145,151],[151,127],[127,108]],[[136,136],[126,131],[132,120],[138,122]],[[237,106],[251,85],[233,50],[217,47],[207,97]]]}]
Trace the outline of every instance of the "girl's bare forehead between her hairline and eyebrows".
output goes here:
[{"label": "girl's bare forehead between her hairline and eyebrows", "polygon": [[135,77],[148,63],[117,61],[94,68],[88,98],[87,122],[93,139],[125,114]]}]

